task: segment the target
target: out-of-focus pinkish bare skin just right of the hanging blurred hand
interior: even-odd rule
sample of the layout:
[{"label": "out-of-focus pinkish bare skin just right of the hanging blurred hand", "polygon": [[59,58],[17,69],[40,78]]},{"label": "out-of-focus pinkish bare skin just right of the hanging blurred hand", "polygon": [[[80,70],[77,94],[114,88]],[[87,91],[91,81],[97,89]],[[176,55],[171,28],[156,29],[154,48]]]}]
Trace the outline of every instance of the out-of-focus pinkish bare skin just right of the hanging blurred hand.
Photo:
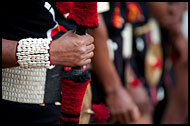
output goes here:
[{"label": "out-of-focus pinkish bare skin just right of the hanging blurred hand", "polygon": [[134,102],[140,110],[140,118],[137,121],[132,121],[130,124],[152,124],[152,112],[153,105],[150,102],[147,91],[143,87],[141,81],[139,86],[133,86],[130,81],[133,78],[137,78],[130,64],[126,66],[126,90],[129,92],[130,96],[133,98]]}]

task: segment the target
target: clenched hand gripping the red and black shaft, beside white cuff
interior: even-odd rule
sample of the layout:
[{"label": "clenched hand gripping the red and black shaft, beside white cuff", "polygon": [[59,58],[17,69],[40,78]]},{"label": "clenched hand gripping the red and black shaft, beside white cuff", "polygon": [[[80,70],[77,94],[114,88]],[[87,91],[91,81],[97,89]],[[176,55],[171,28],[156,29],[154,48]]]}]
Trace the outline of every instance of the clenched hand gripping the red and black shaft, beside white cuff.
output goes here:
[{"label": "clenched hand gripping the red and black shaft, beside white cuff", "polygon": [[91,62],[94,53],[94,38],[90,35],[77,35],[68,31],[52,42],[50,58],[52,64],[62,66],[83,66]]}]

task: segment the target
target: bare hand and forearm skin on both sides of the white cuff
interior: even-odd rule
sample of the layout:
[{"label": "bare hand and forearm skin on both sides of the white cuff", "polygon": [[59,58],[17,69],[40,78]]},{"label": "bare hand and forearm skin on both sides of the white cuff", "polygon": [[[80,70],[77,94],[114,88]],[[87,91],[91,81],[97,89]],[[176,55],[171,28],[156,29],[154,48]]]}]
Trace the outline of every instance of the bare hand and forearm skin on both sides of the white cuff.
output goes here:
[{"label": "bare hand and forearm skin on both sides of the white cuff", "polygon": [[[77,35],[68,31],[51,44],[50,56],[52,64],[62,66],[82,66],[89,64],[94,53],[94,38]],[[15,50],[17,41],[2,38],[2,68],[16,67]]]}]

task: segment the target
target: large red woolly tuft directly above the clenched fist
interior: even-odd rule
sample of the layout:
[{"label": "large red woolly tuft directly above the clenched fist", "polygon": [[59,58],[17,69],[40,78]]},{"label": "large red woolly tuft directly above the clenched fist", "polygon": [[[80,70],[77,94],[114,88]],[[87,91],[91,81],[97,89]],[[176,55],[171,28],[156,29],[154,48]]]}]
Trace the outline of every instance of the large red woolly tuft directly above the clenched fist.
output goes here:
[{"label": "large red woolly tuft directly above the clenched fist", "polygon": [[80,26],[97,27],[97,2],[74,2],[67,19],[74,21],[74,23]]}]

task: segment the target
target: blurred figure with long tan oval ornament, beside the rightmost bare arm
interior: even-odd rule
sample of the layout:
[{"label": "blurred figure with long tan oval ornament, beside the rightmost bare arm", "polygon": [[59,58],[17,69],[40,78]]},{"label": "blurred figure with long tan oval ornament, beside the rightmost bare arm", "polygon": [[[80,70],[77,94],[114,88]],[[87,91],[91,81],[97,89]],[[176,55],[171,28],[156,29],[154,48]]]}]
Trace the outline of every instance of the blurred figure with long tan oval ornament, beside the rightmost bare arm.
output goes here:
[{"label": "blurred figure with long tan oval ornament, beside the rightmost bare arm", "polygon": [[145,2],[128,2],[127,15],[133,29],[133,52],[126,68],[127,89],[142,114],[132,123],[153,123],[155,108],[164,98],[160,29]]}]

